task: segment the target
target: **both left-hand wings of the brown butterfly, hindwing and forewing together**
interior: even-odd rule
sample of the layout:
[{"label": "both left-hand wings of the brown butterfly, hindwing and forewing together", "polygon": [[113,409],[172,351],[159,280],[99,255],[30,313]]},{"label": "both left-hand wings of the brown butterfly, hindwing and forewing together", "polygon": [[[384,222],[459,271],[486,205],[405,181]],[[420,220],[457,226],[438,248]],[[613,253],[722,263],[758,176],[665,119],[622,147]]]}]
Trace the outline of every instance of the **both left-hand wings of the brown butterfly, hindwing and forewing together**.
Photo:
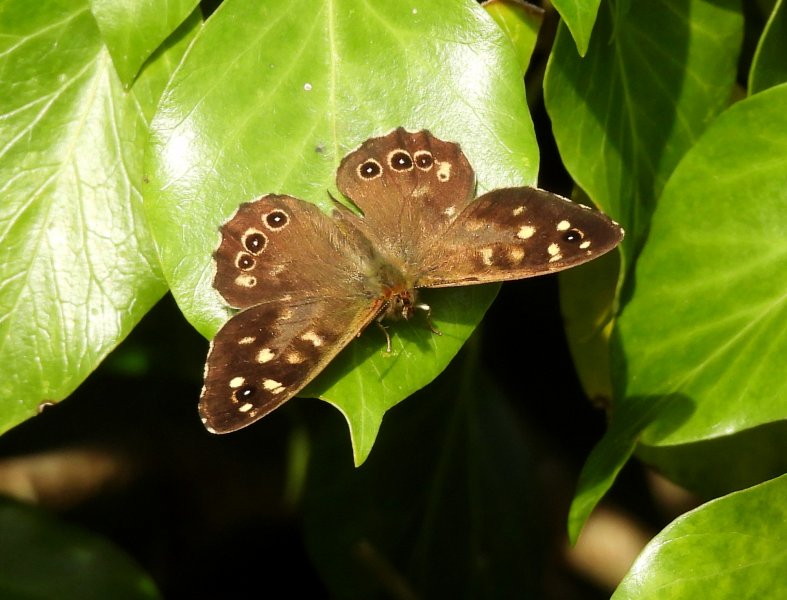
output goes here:
[{"label": "both left-hand wings of the brown butterfly, hindwing and forewing together", "polygon": [[241,205],[221,228],[214,285],[242,308],[216,334],[199,410],[214,432],[253,423],[297,394],[381,308],[363,276],[368,242],[289,196]]}]

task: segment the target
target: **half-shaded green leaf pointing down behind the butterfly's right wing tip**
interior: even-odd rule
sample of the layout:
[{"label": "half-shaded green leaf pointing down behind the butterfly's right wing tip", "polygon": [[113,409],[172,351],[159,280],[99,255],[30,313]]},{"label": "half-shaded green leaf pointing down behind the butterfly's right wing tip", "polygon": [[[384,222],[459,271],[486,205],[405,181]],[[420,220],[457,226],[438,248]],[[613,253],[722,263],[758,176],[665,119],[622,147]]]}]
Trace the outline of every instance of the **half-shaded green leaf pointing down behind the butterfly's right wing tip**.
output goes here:
[{"label": "half-shaded green leaf pointing down behind the butterfly's right wing tip", "polygon": [[683,154],[728,104],[743,19],[736,0],[605,1],[587,56],[558,31],[544,95],[569,173],[642,243],[655,199]]}]

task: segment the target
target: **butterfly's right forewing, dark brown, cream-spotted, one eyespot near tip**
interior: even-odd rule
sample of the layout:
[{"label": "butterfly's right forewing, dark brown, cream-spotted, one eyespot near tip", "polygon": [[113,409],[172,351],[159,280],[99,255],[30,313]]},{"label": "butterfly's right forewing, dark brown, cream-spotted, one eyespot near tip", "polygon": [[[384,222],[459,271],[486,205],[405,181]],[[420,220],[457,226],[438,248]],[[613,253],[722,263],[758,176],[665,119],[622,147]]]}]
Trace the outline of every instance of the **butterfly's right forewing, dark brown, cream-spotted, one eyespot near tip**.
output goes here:
[{"label": "butterfly's right forewing, dark brown, cream-spotted, one eyespot near tip", "polygon": [[523,279],[568,269],[612,250],[623,229],[603,213],[537,188],[484,194],[420,265],[416,287]]}]

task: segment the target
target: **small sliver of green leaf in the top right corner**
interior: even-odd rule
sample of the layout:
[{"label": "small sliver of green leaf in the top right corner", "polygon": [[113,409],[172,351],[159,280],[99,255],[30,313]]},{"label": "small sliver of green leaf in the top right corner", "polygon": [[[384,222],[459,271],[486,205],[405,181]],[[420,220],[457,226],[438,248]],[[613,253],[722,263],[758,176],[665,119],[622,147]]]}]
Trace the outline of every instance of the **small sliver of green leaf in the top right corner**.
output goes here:
[{"label": "small sliver of green leaf in the top right corner", "polygon": [[787,4],[777,0],[749,71],[749,93],[787,82]]}]

